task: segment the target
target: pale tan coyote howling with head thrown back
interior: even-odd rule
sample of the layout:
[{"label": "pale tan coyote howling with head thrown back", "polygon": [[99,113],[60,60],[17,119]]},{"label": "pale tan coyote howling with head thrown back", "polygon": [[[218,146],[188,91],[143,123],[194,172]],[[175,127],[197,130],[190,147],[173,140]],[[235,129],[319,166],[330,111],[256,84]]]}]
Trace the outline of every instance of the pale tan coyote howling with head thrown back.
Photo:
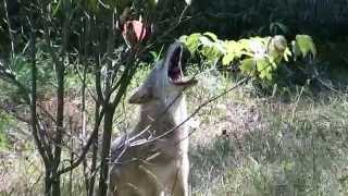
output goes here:
[{"label": "pale tan coyote howling with head thrown back", "polygon": [[174,42],[130,96],[140,105],[133,132],[112,143],[109,196],[188,196],[188,127],[184,89],[197,83],[182,68]]}]

